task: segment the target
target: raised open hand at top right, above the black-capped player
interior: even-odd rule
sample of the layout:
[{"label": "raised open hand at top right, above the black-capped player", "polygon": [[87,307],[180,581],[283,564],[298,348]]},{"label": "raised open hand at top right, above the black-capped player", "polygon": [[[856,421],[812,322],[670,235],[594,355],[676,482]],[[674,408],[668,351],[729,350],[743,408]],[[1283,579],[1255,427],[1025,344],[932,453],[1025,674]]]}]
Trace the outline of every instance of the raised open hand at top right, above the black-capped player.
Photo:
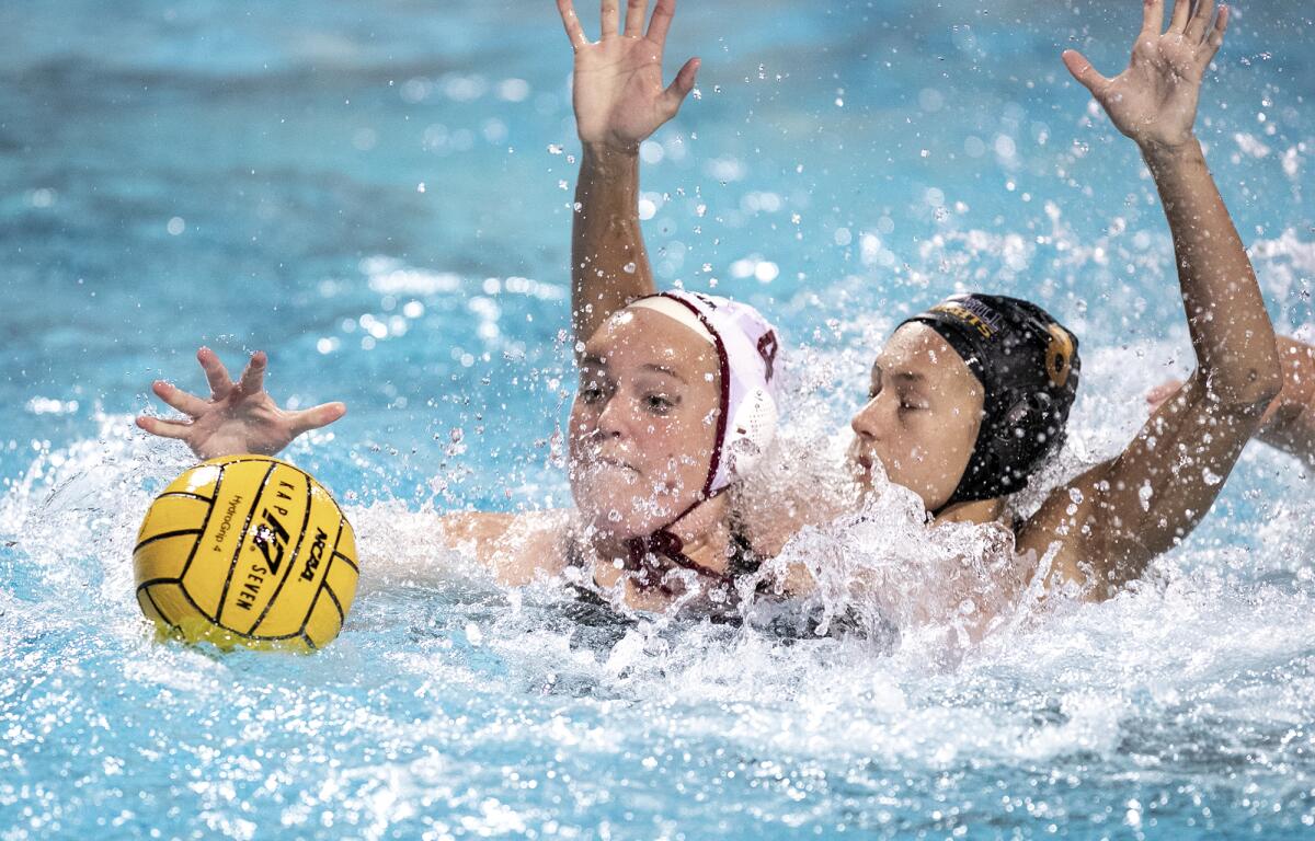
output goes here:
[{"label": "raised open hand at top right, above the black-capped player", "polygon": [[1228,7],[1219,7],[1216,16],[1215,0],[1173,0],[1165,30],[1165,0],[1144,4],[1141,33],[1127,70],[1106,79],[1077,50],[1064,53],[1064,64],[1119,131],[1143,148],[1176,148],[1193,139],[1201,79],[1224,42]]}]

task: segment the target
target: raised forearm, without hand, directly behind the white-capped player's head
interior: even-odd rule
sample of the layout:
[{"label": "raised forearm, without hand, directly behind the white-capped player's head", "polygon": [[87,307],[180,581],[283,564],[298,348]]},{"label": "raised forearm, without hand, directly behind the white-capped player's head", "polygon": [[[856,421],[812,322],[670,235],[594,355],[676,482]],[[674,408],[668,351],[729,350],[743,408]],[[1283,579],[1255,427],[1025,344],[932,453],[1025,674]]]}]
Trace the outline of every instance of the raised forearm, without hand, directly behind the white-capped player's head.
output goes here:
[{"label": "raised forearm, without hand, directly behind the white-capped player's head", "polygon": [[611,313],[654,292],[639,226],[639,155],[584,146],[571,231],[571,323],[584,342]]}]

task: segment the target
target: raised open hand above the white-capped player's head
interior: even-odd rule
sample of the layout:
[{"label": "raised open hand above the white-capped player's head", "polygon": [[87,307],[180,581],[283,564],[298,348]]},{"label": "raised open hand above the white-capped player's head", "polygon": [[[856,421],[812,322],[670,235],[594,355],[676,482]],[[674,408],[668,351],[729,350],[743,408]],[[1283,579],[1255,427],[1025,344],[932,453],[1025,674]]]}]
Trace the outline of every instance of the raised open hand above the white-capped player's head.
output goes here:
[{"label": "raised open hand above the white-capped player's head", "polygon": [[685,62],[663,88],[661,57],[676,0],[658,0],[647,34],[648,0],[627,0],[625,29],[621,0],[602,0],[602,34],[590,43],[572,0],[558,0],[562,22],[575,47],[573,104],[585,145],[634,151],[640,141],[676,116],[694,89],[698,59]]}]

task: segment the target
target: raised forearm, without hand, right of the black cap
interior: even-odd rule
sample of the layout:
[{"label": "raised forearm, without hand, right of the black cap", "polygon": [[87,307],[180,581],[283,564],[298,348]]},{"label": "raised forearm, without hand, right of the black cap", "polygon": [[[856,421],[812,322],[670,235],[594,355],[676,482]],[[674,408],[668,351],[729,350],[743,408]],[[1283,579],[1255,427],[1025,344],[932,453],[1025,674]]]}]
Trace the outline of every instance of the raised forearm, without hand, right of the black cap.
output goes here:
[{"label": "raised forearm, without hand, right of the black cap", "polygon": [[1273,326],[1201,145],[1144,147],[1143,155],[1169,219],[1191,344],[1211,397],[1270,399],[1281,384]]}]

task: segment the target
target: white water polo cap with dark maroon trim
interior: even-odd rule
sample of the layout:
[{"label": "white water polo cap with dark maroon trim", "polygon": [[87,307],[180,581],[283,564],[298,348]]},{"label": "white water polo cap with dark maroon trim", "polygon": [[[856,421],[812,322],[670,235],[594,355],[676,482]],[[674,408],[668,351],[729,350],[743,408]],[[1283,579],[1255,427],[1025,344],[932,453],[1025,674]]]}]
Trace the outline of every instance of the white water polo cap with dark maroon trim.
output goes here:
[{"label": "white water polo cap with dark maroon trim", "polygon": [[630,306],[673,318],[717,348],[718,445],[704,485],[711,497],[752,473],[776,436],[776,329],[747,304],[697,292],[661,292]]}]

